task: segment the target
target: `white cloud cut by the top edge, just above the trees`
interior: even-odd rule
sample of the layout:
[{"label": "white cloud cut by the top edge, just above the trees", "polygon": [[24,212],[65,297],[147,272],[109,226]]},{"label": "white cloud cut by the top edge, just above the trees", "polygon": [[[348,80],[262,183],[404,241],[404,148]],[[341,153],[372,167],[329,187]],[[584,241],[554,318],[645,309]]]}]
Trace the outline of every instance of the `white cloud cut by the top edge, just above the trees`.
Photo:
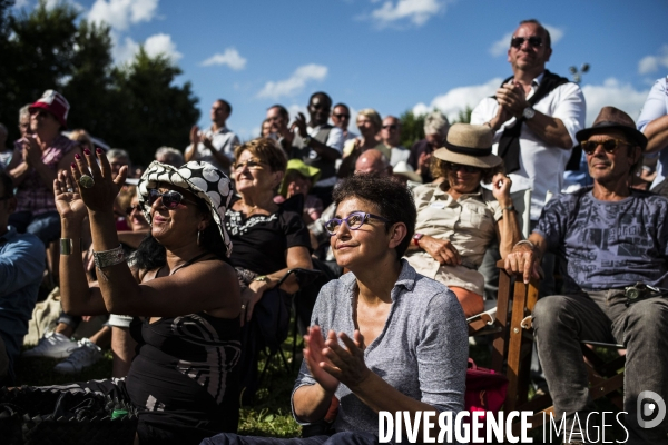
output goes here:
[{"label": "white cloud cut by the top edge, just above the trees", "polygon": [[107,22],[119,31],[130,24],[151,21],[158,9],[158,0],[96,0],[90,8],[88,19],[94,22]]}]

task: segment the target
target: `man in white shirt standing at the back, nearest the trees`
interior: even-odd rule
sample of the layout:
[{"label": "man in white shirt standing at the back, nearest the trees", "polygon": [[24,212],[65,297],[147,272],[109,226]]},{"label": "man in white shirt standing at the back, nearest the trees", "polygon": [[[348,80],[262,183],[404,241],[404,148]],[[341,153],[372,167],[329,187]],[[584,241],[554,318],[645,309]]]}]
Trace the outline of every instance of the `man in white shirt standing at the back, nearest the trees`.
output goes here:
[{"label": "man in white shirt standing at the back, nearest the trees", "polygon": [[212,127],[199,131],[197,126],[190,130],[190,145],[186,148],[186,162],[202,160],[210,162],[225,174],[234,162],[234,148],[239,138],[225,123],[232,115],[232,106],[223,99],[212,105]]}]

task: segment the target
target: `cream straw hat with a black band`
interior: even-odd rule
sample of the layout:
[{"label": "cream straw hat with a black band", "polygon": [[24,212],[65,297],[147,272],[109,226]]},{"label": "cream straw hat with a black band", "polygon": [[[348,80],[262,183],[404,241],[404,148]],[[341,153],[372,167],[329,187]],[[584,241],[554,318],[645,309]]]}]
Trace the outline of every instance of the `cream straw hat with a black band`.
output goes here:
[{"label": "cream straw hat with a black band", "polygon": [[487,126],[454,123],[448,131],[444,147],[435,150],[434,156],[452,164],[493,168],[502,162],[500,157],[492,155],[493,138]]}]

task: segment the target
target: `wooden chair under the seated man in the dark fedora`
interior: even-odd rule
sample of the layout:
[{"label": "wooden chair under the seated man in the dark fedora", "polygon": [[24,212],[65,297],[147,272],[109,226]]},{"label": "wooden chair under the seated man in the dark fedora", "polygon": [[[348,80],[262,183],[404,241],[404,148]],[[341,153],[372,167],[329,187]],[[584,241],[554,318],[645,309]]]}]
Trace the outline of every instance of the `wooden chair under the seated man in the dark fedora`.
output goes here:
[{"label": "wooden chair under the seated man in the dark fedora", "polygon": [[[499,296],[494,323],[501,332],[493,343],[492,369],[504,372],[508,377],[504,411],[532,411],[534,415],[529,422],[536,428],[542,425],[543,413],[549,415],[554,412],[552,399],[547,394],[529,400],[529,370],[533,345],[531,313],[538,301],[540,281],[532,278],[529,285],[524,285],[521,279],[514,279],[505,271],[502,260],[497,266]],[[608,396],[621,409],[623,372],[619,373],[619,369],[623,367],[625,356],[605,362],[596,354],[597,347],[621,349],[623,346],[582,342],[592,400]],[[513,424],[513,432],[519,433],[519,422]]]}]

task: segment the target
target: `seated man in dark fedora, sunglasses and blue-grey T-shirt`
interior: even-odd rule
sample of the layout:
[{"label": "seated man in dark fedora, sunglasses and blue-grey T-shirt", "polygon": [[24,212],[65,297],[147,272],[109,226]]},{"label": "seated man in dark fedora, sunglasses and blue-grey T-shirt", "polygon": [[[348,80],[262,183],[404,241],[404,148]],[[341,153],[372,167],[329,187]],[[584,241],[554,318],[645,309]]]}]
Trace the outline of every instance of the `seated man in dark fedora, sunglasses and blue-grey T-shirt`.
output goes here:
[{"label": "seated man in dark fedora, sunglasses and blue-grey T-shirt", "polygon": [[626,112],[603,107],[577,138],[593,186],[548,202],[505,268],[528,281],[546,251],[564,259],[563,295],[538,300],[533,328],[566,431],[573,424],[578,431],[574,415],[583,423],[591,408],[580,340],[618,343],[627,349],[627,443],[668,444],[667,418],[652,427],[641,418],[644,392],[668,400],[668,298],[661,291],[668,287],[668,199],[629,187],[647,138]]}]

